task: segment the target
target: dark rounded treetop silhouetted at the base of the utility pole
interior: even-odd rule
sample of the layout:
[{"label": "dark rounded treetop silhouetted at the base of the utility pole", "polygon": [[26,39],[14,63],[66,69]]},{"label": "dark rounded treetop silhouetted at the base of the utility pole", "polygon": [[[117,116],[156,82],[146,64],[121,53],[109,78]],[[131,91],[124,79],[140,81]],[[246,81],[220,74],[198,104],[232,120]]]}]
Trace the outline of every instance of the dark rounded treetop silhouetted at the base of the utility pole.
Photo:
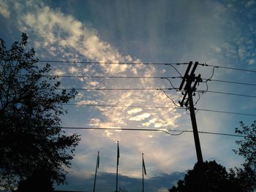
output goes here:
[{"label": "dark rounded treetop silhouetted at the base of the utility pole", "polygon": [[[206,161],[203,163],[204,184],[200,180],[199,164],[195,164],[194,169],[189,170],[184,180],[178,181],[178,186],[169,188],[170,192],[193,192],[204,191],[241,191],[239,183],[235,183],[224,166],[217,164],[216,161]],[[203,184],[203,185],[202,185]]]}]

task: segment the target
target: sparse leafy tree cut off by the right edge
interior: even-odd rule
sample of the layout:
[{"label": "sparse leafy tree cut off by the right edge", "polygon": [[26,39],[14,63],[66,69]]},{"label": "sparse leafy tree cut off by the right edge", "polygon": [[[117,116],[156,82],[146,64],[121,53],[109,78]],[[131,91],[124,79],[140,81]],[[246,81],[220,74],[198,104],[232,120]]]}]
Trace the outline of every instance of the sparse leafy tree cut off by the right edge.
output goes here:
[{"label": "sparse leafy tree cut off by the right edge", "polygon": [[241,164],[242,168],[235,167],[231,172],[245,191],[256,191],[256,121],[251,126],[240,122],[240,128],[236,128],[235,132],[244,139],[236,141],[239,148],[234,152],[244,157],[245,161]]}]

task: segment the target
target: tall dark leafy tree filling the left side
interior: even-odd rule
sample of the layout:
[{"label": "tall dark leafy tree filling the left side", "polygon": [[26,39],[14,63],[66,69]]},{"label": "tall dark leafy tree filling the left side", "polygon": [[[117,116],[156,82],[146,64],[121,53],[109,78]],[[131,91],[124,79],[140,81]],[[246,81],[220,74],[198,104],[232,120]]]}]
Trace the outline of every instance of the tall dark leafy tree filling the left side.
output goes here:
[{"label": "tall dark leafy tree filling the left side", "polygon": [[57,78],[48,76],[49,64],[39,68],[27,39],[22,34],[10,50],[0,39],[0,181],[10,188],[42,169],[63,183],[80,140],[60,127],[63,104],[77,92],[61,90]]}]

